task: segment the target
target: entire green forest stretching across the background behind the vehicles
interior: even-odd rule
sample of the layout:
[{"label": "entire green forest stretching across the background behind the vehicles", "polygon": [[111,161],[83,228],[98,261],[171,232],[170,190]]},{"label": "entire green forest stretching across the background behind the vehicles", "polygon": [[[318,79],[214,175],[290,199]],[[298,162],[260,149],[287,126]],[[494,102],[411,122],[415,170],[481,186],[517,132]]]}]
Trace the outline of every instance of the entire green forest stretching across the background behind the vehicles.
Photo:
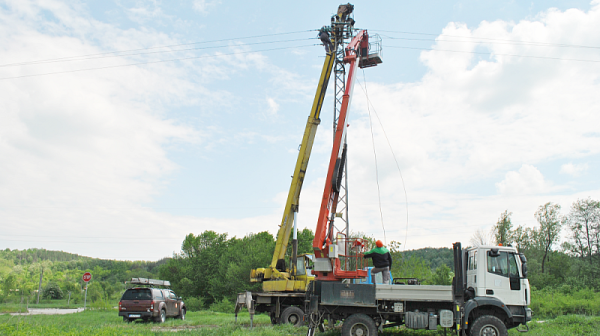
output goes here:
[{"label": "entire green forest stretching across the background behind the vehicles", "polygon": [[[463,246],[518,246],[528,259],[532,308],[542,315],[600,314],[600,202],[578,200],[565,214],[561,214],[560,206],[546,203],[534,216],[537,226],[515,226],[507,210],[491,232],[477,231]],[[562,243],[561,234],[567,237]],[[371,244],[374,241],[364,238]],[[298,232],[299,253],[312,252],[312,239],[311,230]],[[394,259],[394,277],[415,277],[422,284],[451,283],[450,247],[402,251],[398,242],[390,242],[388,247]],[[43,268],[42,298],[46,300],[64,300],[71,292],[71,303],[80,303],[84,288],[81,276],[89,271],[93,280],[88,300],[99,307],[115,306],[126,288],[125,281],[150,277],[170,280],[191,310],[231,311],[238,292],[260,290],[260,284],[249,282],[250,270],[268,266],[274,248],[275,240],[268,232],[237,238],[208,230],[189,234],[180,252],[157,262],[6,249],[0,251],[0,298],[2,303],[33,302]]]}]

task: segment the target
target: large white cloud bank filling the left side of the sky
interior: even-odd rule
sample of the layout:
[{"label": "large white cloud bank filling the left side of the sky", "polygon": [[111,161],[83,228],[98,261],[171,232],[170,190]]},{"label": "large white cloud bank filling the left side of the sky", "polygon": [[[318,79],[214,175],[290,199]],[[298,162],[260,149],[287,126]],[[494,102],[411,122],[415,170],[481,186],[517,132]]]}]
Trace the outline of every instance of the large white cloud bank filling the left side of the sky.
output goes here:
[{"label": "large white cloud bank filling the left side of the sky", "polygon": [[[47,13],[53,14],[51,20]],[[176,42],[151,30],[121,30],[60,2],[0,6],[4,63]],[[110,58],[4,67],[0,77],[125,63],[131,61]],[[222,68],[217,73],[228,71]],[[194,82],[188,72],[185,65],[162,63],[0,80],[4,244],[14,248],[33,242],[105,258],[169,256],[171,246],[175,249],[189,232],[183,224],[190,219],[142,204],[158,195],[164,179],[178,169],[168,158],[167,147],[199,143],[202,134],[166,117],[165,108],[223,99],[223,94]],[[139,249],[145,244],[139,238],[151,241],[147,233],[158,231],[173,244],[150,252]]]}]

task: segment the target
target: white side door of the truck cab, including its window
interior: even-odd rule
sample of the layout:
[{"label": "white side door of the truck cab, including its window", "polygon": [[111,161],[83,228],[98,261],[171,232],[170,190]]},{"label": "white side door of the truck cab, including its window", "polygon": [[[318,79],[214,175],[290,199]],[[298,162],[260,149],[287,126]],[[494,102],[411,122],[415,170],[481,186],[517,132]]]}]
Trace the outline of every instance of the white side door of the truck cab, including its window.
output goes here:
[{"label": "white side door of the truck cab, including its window", "polygon": [[498,298],[506,305],[525,305],[524,286],[519,273],[519,264],[512,252],[500,251],[496,255],[487,253],[485,292],[480,296]]}]

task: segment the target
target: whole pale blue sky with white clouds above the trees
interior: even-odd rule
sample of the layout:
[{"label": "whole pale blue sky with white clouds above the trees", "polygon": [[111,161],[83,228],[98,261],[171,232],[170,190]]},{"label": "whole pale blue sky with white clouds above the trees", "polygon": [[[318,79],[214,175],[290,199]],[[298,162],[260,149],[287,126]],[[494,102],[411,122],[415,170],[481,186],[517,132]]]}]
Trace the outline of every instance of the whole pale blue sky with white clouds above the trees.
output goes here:
[{"label": "whole pale blue sky with white clouds above the trees", "polygon": [[[383,63],[350,107],[351,231],[451,247],[600,199],[599,0],[352,3]],[[190,233],[275,234],[339,4],[0,0],[0,248],[158,260]]]}]

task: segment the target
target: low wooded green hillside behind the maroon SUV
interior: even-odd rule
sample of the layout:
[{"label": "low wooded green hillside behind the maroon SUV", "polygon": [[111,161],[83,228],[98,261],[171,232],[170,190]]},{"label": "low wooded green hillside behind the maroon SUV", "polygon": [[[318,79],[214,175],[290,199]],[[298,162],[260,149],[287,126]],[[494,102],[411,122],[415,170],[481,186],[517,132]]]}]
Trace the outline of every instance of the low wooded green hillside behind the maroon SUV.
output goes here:
[{"label": "low wooded green hillside behind the maroon SUV", "polygon": [[42,275],[40,301],[63,300],[66,304],[83,302],[82,276],[92,273],[88,284],[88,303],[114,306],[132,277],[154,278],[166,260],[118,261],[83,257],[45,249],[0,250],[0,303],[37,302]]}]

